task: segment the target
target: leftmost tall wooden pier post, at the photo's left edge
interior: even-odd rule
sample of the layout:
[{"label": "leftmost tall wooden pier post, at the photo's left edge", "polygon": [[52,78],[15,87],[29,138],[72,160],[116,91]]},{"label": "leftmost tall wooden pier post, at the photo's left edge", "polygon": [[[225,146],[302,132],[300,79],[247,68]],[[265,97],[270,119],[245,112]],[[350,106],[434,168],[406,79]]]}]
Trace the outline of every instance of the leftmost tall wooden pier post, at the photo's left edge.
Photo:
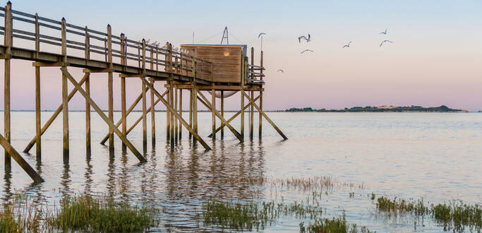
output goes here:
[{"label": "leftmost tall wooden pier post, at the photo's left edge", "polygon": [[[4,45],[6,46],[5,54],[5,76],[4,76],[4,133],[7,143],[10,143],[10,57],[13,42],[12,37],[12,4],[10,1],[5,6],[5,34]],[[5,171],[11,170],[11,155],[5,150]]]}]

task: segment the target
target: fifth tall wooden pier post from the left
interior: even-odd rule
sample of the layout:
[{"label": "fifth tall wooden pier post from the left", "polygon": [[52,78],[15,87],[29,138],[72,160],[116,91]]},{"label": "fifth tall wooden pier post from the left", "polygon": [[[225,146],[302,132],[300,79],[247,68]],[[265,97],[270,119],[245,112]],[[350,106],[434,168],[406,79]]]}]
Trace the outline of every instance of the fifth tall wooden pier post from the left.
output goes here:
[{"label": "fifth tall wooden pier post from the left", "polygon": [[[114,87],[112,77],[112,28],[107,25],[107,62],[109,62],[109,73],[107,89],[109,95],[109,119],[114,122]],[[109,150],[114,150],[114,129],[109,126]]]}]

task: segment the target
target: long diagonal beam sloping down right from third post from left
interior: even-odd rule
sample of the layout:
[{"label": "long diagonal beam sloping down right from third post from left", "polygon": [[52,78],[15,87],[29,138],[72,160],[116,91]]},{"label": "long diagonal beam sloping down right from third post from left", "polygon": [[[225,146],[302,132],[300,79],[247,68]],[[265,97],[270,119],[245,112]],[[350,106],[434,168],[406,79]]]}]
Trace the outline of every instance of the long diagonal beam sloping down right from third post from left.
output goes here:
[{"label": "long diagonal beam sloping down right from third post from left", "polygon": [[130,141],[127,140],[126,136],[123,136],[122,132],[119,131],[119,129],[117,129],[117,127],[114,125],[114,122],[111,121],[111,119],[109,119],[109,117],[107,117],[104,112],[102,112],[102,110],[100,109],[99,106],[97,106],[97,104],[94,102],[94,100],[92,100],[90,98],[89,95],[87,95],[87,93],[85,92],[85,90],[82,89],[82,87],[77,83],[76,79],[73,78],[71,76],[70,73],[68,73],[67,69],[62,67],[60,68],[62,73],[64,73],[64,76],[66,76],[68,78],[68,80],[71,81],[71,83],[73,84],[73,86],[78,90],[78,92],[80,92],[80,94],[83,95],[83,97],[85,98],[85,100],[87,100],[89,103],[90,103],[90,106],[92,106],[93,109],[95,109],[95,112],[97,112],[97,114],[99,114],[99,116],[109,125],[111,126],[111,128],[114,130],[114,133],[117,134],[117,136],[119,138],[121,138],[121,141],[126,144],[127,148],[129,148],[129,150],[131,150],[132,153],[134,153],[135,157],[138,158],[138,160],[140,162],[147,162],[147,160],[145,159],[145,157],[143,155],[141,155],[139,153],[139,151],[137,149],[135,149],[135,147],[132,145],[132,143]]}]

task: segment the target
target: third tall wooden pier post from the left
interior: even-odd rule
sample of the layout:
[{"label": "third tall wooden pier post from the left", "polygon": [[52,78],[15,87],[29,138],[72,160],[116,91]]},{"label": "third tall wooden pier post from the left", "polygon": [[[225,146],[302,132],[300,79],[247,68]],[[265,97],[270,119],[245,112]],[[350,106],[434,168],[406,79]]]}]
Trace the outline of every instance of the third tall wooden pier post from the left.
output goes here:
[{"label": "third tall wooden pier post from the left", "polygon": [[[66,37],[66,20],[61,20],[62,30],[62,55],[64,56],[62,68],[67,67],[67,37]],[[64,125],[64,162],[68,161],[68,97],[67,97],[67,77],[62,73],[62,119]]]}]

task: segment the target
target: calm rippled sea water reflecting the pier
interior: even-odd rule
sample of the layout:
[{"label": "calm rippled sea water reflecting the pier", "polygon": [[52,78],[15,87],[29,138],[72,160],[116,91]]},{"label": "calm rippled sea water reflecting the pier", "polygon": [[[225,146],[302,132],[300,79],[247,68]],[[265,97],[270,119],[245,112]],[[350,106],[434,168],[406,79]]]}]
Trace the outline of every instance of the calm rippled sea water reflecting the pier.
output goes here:
[{"label": "calm rippled sea water reflecting the pier", "polygon": [[[42,121],[51,114],[42,112]],[[119,119],[119,115],[116,113],[114,117]],[[13,162],[11,174],[0,181],[1,201],[7,201],[15,192],[25,192],[47,203],[72,193],[146,203],[165,210],[159,214],[162,225],[152,229],[159,231],[198,230],[195,214],[201,203],[210,198],[270,200],[282,196],[289,202],[303,200],[310,194],[273,191],[269,187],[261,187],[259,193],[254,193],[252,187],[236,184],[236,180],[250,176],[330,176],[363,184],[365,189],[339,189],[328,194],[321,204],[323,215],[332,217],[344,210],[349,223],[378,232],[411,232],[414,224],[373,215],[375,203],[367,198],[372,192],[377,196],[424,198],[430,203],[462,199],[482,204],[480,113],[269,113],[289,140],[282,141],[264,121],[263,139],[258,140],[256,129],[255,140],[249,141],[246,127],[244,143],[239,143],[227,129],[224,141],[211,141],[207,138],[211,115],[200,113],[200,135],[213,149],[205,152],[199,144],[188,141],[186,130],[182,140],[171,148],[165,136],[166,114],[159,112],[157,141],[155,146],[147,143],[144,155],[148,162],[144,164],[139,164],[130,152],[122,153],[118,139],[114,154],[98,144],[108,128],[95,112],[92,112],[92,155],[86,157],[84,116],[83,112],[69,114],[70,160],[63,162],[59,117],[42,137],[42,162],[35,160],[35,147],[31,155],[21,153],[45,182],[32,184]],[[133,113],[128,118],[129,124],[139,116],[140,113]],[[1,126],[3,119],[0,122]],[[147,122],[150,129],[150,119]],[[239,129],[239,120],[233,126]],[[142,151],[140,127],[128,138]],[[12,129],[12,144],[20,152],[35,135],[35,112],[13,112]],[[3,159],[0,166],[4,167]],[[349,196],[351,192],[354,197]],[[282,217],[266,227],[265,232],[297,232],[301,221]],[[428,222],[416,229],[440,232],[442,227]]]}]

